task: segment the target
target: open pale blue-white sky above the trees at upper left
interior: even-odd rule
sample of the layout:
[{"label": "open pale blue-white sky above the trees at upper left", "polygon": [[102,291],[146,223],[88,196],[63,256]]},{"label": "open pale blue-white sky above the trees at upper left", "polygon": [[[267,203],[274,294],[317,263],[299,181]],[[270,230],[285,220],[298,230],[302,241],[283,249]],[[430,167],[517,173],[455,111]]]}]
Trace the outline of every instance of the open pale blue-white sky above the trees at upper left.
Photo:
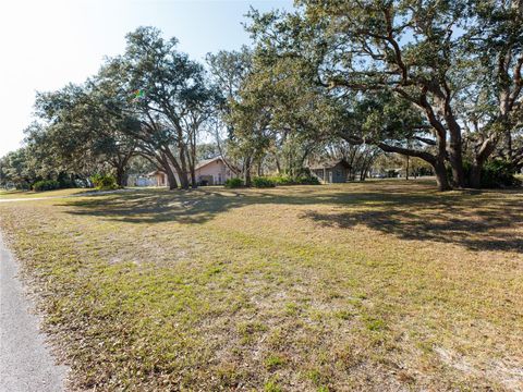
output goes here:
[{"label": "open pale blue-white sky above the trees at upper left", "polygon": [[124,36],[156,26],[203,61],[208,52],[250,42],[245,13],[291,9],[292,0],[1,0],[0,157],[21,146],[36,91],[82,83]]}]

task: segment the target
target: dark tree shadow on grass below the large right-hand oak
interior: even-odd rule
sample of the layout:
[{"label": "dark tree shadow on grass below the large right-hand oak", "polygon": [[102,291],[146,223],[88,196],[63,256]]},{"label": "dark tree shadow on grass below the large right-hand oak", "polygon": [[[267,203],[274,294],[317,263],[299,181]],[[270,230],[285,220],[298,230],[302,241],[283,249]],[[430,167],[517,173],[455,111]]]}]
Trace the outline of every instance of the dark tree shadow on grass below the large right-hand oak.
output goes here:
[{"label": "dark tree shadow on grass below the large right-hand oak", "polygon": [[339,213],[309,211],[303,217],[325,226],[363,224],[402,240],[462,245],[472,250],[523,252],[523,206],[499,200],[489,207],[447,203],[404,204]]}]

